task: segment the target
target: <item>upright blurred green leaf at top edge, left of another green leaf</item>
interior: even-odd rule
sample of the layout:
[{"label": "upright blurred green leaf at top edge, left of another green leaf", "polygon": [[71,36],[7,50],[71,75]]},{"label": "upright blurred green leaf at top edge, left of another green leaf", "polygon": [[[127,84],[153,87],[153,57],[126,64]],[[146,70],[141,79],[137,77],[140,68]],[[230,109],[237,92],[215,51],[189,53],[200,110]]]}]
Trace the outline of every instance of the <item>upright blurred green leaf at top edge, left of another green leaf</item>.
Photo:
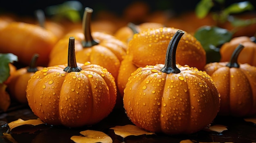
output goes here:
[{"label": "upright blurred green leaf at top edge, left of another green leaf", "polygon": [[212,0],[201,0],[195,7],[195,14],[198,18],[205,18],[213,7]]}]

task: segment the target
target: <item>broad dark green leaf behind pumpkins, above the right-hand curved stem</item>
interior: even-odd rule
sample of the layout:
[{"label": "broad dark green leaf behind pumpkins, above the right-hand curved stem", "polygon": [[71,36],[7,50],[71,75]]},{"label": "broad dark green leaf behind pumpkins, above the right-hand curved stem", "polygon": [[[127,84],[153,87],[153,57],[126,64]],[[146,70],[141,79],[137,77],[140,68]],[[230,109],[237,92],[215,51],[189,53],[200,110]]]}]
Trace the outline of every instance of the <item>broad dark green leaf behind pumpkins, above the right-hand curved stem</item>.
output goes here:
[{"label": "broad dark green leaf behind pumpkins, above the right-hand curved stem", "polygon": [[229,42],[233,33],[227,29],[217,26],[202,26],[195,31],[195,38],[202,44],[207,55],[207,63],[219,62],[220,52],[219,46],[225,42]]}]

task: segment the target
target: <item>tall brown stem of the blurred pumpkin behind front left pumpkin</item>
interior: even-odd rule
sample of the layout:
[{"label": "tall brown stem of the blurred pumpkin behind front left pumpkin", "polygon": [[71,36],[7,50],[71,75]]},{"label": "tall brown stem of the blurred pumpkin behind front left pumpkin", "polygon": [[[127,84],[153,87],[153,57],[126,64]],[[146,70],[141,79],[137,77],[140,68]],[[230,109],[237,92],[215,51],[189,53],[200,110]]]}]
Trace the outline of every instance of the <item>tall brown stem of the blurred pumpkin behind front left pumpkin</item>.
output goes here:
[{"label": "tall brown stem of the blurred pumpkin behind front left pumpkin", "polygon": [[93,10],[89,7],[85,7],[85,11],[83,13],[83,34],[85,40],[82,41],[83,47],[91,47],[99,44],[99,42],[95,41],[92,38],[91,34],[91,17]]}]

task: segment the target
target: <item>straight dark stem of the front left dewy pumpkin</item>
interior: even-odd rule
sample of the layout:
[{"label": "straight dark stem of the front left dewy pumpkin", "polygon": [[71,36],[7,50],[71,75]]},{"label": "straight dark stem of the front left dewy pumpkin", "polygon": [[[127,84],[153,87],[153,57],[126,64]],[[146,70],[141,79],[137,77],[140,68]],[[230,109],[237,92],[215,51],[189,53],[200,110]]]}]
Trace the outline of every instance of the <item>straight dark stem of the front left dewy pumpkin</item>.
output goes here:
[{"label": "straight dark stem of the front left dewy pumpkin", "polygon": [[70,37],[68,44],[68,57],[67,57],[67,67],[64,68],[64,71],[67,73],[70,72],[79,72],[82,69],[76,64],[76,55],[75,55],[75,38]]}]

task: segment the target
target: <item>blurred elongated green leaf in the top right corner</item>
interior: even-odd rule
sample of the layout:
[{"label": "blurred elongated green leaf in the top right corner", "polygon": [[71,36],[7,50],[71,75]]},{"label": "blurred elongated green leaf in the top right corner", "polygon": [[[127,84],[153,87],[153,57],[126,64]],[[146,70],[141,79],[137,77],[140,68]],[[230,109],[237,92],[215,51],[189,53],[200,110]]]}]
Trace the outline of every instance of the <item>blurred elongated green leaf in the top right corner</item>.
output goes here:
[{"label": "blurred elongated green leaf in the top right corner", "polygon": [[224,9],[224,13],[231,14],[231,13],[242,13],[244,11],[252,11],[254,10],[254,6],[252,3],[248,1],[244,2],[237,2],[234,4],[229,5],[227,8]]}]

